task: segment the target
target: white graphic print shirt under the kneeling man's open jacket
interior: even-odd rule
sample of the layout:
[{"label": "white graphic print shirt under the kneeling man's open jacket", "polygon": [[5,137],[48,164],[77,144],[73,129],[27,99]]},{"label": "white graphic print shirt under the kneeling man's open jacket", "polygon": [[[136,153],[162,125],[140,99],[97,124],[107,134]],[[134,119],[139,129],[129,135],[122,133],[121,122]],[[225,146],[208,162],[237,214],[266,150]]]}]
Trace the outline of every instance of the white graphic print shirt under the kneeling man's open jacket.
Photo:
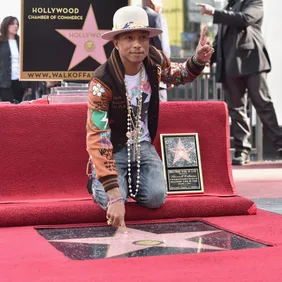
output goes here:
[{"label": "white graphic print shirt under the kneeling man's open jacket", "polygon": [[[137,102],[138,102],[137,98],[140,93],[140,75],[141,75],[141,71],[136,75],[125,75],[125,83],[129,92],[129,97],[131,99],[131,105],[135,116],[137,114]],[[149,110],[149,103],[151,99],[152,90],[145,70],[143,71],[143,75],[142,75],[142,86],[143,86],[143,92],[142,92],[143,103],[142,103],[142,114],[141,114],[142,134],[140,141],[151,142],[150,133],[148,129],[148,110]]]}]

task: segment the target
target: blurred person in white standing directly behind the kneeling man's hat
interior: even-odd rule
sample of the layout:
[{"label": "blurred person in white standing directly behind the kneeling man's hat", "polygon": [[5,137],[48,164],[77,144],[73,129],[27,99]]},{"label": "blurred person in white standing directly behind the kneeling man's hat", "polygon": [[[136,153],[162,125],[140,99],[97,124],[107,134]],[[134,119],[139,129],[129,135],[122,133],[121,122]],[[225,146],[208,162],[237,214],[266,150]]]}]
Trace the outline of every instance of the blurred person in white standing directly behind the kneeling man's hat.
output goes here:
[{"label": "blurred person in white standing directly behind the kneeling man's hat", "polygon": [[[162,0],[143,0],[143,9],[146,11],[149,18],[149,27],[159,28],[163,31],[162,34],[150,38],[150,45],[161,50],[170,58],[171,50],[169,43],[168,27],[165,16],[162,14],[163,1]],[[159,97],[161,102],[167,101],[167,85],[160,82]]]}]

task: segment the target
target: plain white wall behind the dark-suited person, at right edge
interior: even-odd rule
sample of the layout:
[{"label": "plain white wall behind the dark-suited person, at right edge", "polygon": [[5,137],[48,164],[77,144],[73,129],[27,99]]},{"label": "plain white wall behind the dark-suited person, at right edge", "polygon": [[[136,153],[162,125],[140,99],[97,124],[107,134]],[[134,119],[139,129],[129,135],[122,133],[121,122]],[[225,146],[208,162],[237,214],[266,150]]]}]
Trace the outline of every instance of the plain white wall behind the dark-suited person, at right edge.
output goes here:
[{"label": "plain white wall behind the dark-suited person, at right edge", "polygon": [[268,75],[267,81],[270,95],[273,98],[279,125],[282,125],[281,8],[281,1],[264,1],[263,35],[272,63],[272,71]]}]

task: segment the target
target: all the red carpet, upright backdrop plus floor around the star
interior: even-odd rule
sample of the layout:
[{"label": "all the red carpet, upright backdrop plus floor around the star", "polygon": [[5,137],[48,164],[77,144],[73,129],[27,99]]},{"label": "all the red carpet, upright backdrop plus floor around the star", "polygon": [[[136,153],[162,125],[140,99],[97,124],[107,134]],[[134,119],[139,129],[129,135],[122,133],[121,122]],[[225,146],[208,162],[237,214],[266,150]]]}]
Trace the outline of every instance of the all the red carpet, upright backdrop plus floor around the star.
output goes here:
[{"label": "all the red carpet, upright backdrop plus floor around the star", "polygon": [[[126,220],[196,218],[272,247],[86,261],[52,247],[32,225],[105,224],[85,187],[85,119],[85,105],[1,106],[0,226],[11,226],[0,228],[1,282],[281,281],[282,217],[260,210],[249,216],[256,206],[236,196],[221,102],[161,105],[159,133],[199,133],[205,193],[169,197],[159,210],[129,203]],[[13,227],[20,225],[30,226]]]}]

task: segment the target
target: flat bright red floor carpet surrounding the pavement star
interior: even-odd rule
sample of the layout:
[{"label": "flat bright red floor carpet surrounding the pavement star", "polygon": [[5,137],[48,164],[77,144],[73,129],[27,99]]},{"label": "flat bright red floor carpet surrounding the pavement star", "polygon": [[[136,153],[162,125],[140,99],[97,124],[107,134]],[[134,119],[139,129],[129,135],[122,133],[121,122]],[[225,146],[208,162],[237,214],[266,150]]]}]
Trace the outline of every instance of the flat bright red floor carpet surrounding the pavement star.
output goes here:
[{"label": "flat bright red floor carpet surrounding the pavement star", "polygon": [[1,281],[217,281],[278,282],[282,217],[204,218],[204,221],[274,247],[130,259],[73,261],[32,227],[0,229]]}]

